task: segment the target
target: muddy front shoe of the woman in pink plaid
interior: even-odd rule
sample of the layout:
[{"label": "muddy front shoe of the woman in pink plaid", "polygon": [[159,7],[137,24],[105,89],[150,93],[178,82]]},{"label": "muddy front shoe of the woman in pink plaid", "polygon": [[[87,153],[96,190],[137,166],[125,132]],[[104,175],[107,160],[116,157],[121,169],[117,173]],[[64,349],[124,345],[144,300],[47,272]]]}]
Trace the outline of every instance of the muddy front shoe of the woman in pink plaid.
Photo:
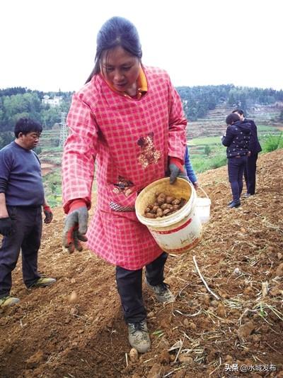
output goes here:
[{"label": "muddy front shoe of the woman in pink plaid", "polygon": [[139,353],[145,353],[150,350],[151,342],[145,319],[138,323],[128,323],[128,331],[129,344],[132,348],[137,349]]}]

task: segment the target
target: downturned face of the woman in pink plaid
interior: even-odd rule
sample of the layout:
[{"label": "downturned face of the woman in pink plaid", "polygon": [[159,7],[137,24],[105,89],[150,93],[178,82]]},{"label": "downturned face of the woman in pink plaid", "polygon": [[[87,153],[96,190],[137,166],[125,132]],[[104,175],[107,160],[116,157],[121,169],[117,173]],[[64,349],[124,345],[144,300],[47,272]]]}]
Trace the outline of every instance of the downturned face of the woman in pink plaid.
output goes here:
[{"label": "downturned face of the woman in pink plaid", "polygon": [[134,96],[137,93],[140,60],[121,46],[103,52],[100,70],[117,91]]}]

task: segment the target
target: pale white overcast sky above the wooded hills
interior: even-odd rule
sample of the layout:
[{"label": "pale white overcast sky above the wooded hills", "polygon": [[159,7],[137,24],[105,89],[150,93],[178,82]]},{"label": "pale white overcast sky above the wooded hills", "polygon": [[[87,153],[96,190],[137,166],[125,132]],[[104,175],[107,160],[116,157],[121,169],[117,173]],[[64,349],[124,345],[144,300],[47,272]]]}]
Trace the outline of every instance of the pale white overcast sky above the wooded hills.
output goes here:
[{"label": "pale white overcast sky above the wooded hills", "polygon": [[2,0],[0,89],[74,91],[112,16],[139,31],[144,65],[175,86],[283,89],[282,0]]}]

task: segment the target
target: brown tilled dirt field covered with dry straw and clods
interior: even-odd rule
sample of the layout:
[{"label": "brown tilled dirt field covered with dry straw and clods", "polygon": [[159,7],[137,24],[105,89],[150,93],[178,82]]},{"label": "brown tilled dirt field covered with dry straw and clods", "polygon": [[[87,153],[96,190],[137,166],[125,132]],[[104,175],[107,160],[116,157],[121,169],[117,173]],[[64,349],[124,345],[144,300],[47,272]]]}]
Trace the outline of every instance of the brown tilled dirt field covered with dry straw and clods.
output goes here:
[{"label": "brown tilled dirt field covered with dry straw and clods", "polygon": [[135,361],[115,268],[88,250],[64,251],[63,213],[54,209],[39,266],[57,283],[25,289],[18,263],[12,294],[21,302],[0,313],[0,377],[283,377],[282,162],[283,150],[260,155],[257,194],[239,209],[226,209],[226,167],[200,174],[211,221],[195,250],[168,259],[175,303],[158,304],[144,288],[152,348]]}]

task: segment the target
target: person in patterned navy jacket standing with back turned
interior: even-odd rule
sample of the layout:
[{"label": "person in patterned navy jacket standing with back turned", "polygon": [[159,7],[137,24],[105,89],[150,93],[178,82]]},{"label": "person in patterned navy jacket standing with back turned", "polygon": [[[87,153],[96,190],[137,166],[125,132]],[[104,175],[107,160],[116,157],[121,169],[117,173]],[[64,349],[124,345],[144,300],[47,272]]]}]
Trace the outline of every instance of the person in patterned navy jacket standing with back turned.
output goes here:
[{"label": "person in patterned navy jacket standing with back turned", "polygon": [[243,171],[246,166],[250,143],[250,124],[242,123],[236,113],[231,113],[226,117],[226,124],[228,127],[222,137],[222,144],[227,147],[228,175],[233,195],[233,200],[229,202],[228,207],[232,209],[241,205]]}]

